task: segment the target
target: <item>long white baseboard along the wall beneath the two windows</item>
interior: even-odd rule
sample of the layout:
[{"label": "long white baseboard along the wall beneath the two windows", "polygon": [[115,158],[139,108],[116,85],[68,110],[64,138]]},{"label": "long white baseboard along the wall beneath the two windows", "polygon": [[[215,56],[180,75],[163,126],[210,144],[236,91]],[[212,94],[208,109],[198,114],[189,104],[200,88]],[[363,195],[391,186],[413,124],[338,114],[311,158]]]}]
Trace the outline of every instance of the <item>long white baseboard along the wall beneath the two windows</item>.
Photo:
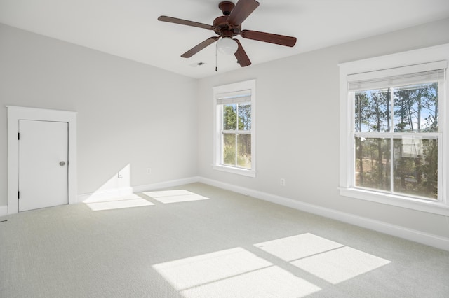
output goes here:
[{"label": "long white baseboard along the wall beneath the two windows", "polygon": [[279,197],[274,194],[267,194],[266,192],[250,190],[245,187],[239,187],[239,186],[231,185],[228,183],[222,183],[217,180],[211,180],[208,178],[199,178],[199,182],[208,184],[208,185],[212,185],[215,187],[220,187],[225,190],[231,190],[233,192],[238,192],[240,194],[246,194],[246,195],[249,195],[256,199],[270,201],[274,204],[279,204],[279,205],[287,206],[290,208],[295,208],[297,210],[305,211],[308,213],[314,213],[316,215],[321,215],[326,218],[332,218],[334,220],[339,220],[341,222],[347,222],[351,225],[357,225],[358,227],[365,227],[367,229],[373,229],[377,232],[382,232],[384,234],[389,234],[389,235],[397,236],[397,237],[407,239],[410,241],[415,241],[418,243],[425,244],[427,246],[433,246],[435,248],[449,250],[449,239],[442,237],[442,236],[437,236],[434,234],[420,232],[415,229],[408,229],[406,227],[401,227],[398,225],[391,225],[387,222],[381,222],[379,220],[371,220],[369,218],[363,218],[358,215],[344,213],[341,211],[335,211],[330,208],[324,208],[321,206],[316,206],[313,204],[308,204],[308,203],[304,203],[301,201],[288,199],[285,197]]}]

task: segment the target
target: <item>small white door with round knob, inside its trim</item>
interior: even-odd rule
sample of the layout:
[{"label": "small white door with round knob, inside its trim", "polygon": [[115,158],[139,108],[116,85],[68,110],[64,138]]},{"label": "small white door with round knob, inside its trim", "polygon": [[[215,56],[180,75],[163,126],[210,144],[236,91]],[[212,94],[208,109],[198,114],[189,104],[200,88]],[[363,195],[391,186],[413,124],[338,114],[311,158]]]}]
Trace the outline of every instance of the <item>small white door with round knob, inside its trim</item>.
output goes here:
[{"label": "small white door with round knob, inside its trim", "polygon": [[19,120],[19,211],[69,203],[68,123]]}]

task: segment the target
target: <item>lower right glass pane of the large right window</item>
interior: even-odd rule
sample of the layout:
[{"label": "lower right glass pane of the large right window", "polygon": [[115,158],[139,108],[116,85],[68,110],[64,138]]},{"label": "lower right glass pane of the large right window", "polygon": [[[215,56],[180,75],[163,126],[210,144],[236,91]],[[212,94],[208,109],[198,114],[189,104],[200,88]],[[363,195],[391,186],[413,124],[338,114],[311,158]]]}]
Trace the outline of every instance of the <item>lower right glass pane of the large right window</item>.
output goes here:
[{"label": "lower right glass pane of the large right window", "polygon": [[394,192],[437,199],[437,139],[394,139]]}]

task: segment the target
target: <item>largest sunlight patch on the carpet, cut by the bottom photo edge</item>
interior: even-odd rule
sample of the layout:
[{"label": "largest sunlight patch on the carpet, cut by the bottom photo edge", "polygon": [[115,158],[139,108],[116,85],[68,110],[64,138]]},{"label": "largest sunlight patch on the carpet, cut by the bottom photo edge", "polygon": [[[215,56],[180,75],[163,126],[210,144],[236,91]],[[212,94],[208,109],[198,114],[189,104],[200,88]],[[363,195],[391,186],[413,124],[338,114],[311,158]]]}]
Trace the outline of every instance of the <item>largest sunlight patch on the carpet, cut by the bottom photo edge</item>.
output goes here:
[{"label": "largest sunlight patch on the carpet, cut by the bottom photo edge", "polygon": [[243,248],[153,268],[184,297],[304,297],[321,290]]}]

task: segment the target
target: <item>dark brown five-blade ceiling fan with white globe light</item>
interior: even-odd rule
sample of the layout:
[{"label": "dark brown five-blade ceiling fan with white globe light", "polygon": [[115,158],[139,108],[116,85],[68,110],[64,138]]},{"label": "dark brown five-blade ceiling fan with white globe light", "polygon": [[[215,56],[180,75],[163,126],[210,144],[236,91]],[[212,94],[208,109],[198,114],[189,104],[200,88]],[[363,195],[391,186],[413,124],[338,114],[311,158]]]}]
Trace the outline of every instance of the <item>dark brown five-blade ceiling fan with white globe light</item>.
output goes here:
[{"label": "dark brown five-blade ceiling fan with white globe light", "polygon": [[251,13],[253,13],[257,6],[259,6],[259,2],[255,0],[239,0],[235,5],[230,1],[222,1],[218,4],[218,8],[222,10],[223,15],[221,17],[217,17],[213,21],[213,25],[177,19],[176,17],[167,17],[165,15],[158,17],[158,20],[213,30],[215,31],[215,34],[218,35],[210,37],[206,39],[206,41],[195,45],[193,48],[182,54],[181,57],[192,57],[208,45],[218,41],[217,48],[221,49],[222,52],[225,52],[225,54],[234,54],[240,66],[244,67],[250,65],[251,61],[248,58],[248,55],[246,55],[245,50],[243,50],[240,41],[238,39],[234,39],[234,36],[240,35],[243,38],[253,39],[255,41],[264,41],[266,43],[275,43],[277,45],[286,45],[288,47],[293,47],[296,43],[296,38],[291,36],[283,36],[252,30],[242,30],[241,23],[246,20]]}]

